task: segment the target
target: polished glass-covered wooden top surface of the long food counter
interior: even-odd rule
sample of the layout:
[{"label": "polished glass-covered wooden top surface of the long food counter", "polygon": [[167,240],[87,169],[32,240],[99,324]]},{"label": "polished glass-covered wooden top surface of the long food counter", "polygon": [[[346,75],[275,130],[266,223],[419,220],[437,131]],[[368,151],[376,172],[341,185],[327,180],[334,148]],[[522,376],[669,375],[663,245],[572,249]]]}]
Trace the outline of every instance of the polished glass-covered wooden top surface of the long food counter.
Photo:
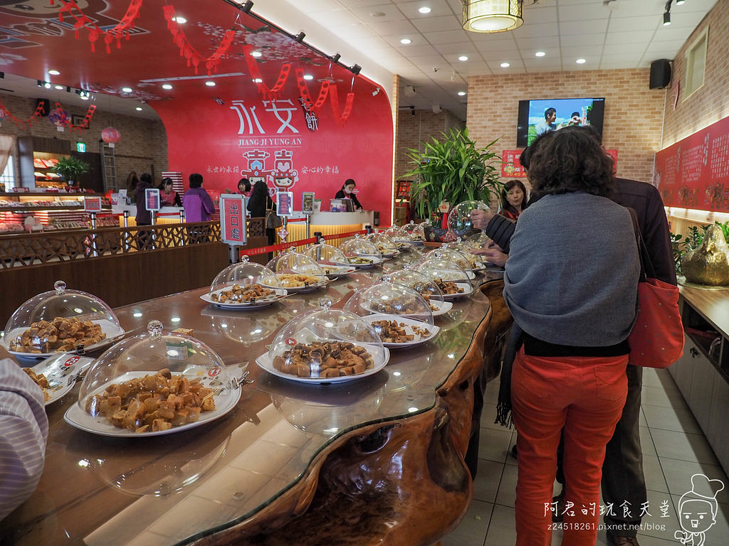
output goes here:
[{"label": "polished glass-covered wooden top surface of the long food counter", "polygon": [[[200,299],[206,289],[116,309],[127,331],[150,320],[168,329],[193,328],[233,375],[248,371],[254,382],[243,386],[227,416],[147,438],[93,435],[64,422],[63,414],[77,403],[77,384],[47,407],[50,435],[41,482],[0,522],[0,544],[189,544],[276,505],[311,474],[313,461],[353,431],[429,411],[488,312],[489,300],[479,290],[436,317],[441,328],[436,339],[392,350],[386,368],[372,376],[311,385],[280,379],[255,363],[281,325],[316,309],[322,296],[341,307],[354,290],[421,252],[249,312],[206,304]],[[480,274],[472,284],[484,280]],[[397,472],[397,460],[387,464],[387,472]]]}]

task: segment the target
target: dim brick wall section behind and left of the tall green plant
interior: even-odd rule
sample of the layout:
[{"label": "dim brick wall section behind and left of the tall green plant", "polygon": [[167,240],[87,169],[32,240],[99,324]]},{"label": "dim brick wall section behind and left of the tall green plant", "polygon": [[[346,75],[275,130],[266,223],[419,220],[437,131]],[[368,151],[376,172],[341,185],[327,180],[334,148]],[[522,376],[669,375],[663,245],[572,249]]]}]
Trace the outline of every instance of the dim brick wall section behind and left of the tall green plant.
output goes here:
[{"label": "dim brick wall section behind and left of the tall green plant", "polygon": [[421,150],[422,143],[432,137],[440,138],[441,132],[448,132],[451,128],[462,129],[464,122],[448,110],[434,114],[430,110],[416,110],[415,116],[402,108],[397,119],[397,148],[395,150],[395,179],[405,178],[405,173],[412,170],[410,159],[405,155],[408,148]]}]

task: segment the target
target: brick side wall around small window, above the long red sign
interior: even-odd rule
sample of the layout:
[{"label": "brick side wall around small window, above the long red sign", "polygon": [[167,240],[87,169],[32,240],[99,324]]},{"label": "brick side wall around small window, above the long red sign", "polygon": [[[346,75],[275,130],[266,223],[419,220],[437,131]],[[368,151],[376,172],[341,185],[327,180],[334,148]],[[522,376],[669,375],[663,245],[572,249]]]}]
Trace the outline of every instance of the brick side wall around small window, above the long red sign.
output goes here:
[{"label": "brick side wall around small window, above the long red sign", "polygon": [[[686,50],[709,27],[703,87],[685,97]],[[719,0],[688,37],[673,63],[661,149],[729,116],[729,0]],[[679,97],[674,108],[674,96]]]}]

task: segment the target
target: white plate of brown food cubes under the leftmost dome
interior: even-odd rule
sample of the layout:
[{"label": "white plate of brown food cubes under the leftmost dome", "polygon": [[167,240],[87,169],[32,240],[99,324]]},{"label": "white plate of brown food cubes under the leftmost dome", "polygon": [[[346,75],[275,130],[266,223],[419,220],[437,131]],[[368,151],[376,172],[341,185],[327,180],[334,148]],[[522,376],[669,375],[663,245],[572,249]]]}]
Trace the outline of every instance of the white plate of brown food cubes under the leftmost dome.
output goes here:
[{"label": "white plate of brown food cubes under the leftmost dome", "polygon": [[101,349],[124,333],[124,328],[110,320],[55,317],[31,323],[30,328],[5,332],[0,344],[17,357],[48,358],[60,352],[74,352],[79,345],[85,351]]}]

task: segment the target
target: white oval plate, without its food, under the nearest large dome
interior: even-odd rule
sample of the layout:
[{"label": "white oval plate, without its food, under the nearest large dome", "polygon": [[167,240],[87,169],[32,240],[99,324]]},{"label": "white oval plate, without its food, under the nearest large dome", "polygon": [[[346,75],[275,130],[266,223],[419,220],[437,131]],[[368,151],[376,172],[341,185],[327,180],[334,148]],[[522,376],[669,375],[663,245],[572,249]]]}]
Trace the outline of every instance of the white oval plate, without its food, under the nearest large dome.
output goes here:
[{"label": "white oval plate, without its food, under the nearest large dome", "polygon": [[[144,377],[148,373],[155,373],[153,371],[130,371],[124,375],[117,377],[111,383],[122,383],[123,381],[129,381],[136,377]],[[203,379],[204,382],[204,379]],[[104,392],[106,385],[95,390],[91,395]],[[172,427],[168,430],[157,430],[155,432],[133,432],[132,430],[121,429],[114,427],[113,424],[106,421],[104,416],[93,417],[87,414],[86,411],[79,407],[78,403],[74,403],[66,411],[63,419],[79,430],[85,430],[85,432],[91,432],[91,434],[98,434],[101,436],[114,436],[116,438],[147,438],[148,436],[163,436],[167,434],[174,434],[175,432],[181,432],[182,430],[190,430],[195,427],[199,427],[201,424],[206,424],[216,419],[221,418],[227,414],[230,410],[235,408],[238,400],[241,399],[241,387],[236,384],[235,388],[230,388],[230,385],[224,387],[225,390],[229,391],[230,394],[225,396],[217,395],[215,397],[215,409],[213,411],[203,411],[200,413],[200,419],[194,423],[183,424],[180,427]]]}]

